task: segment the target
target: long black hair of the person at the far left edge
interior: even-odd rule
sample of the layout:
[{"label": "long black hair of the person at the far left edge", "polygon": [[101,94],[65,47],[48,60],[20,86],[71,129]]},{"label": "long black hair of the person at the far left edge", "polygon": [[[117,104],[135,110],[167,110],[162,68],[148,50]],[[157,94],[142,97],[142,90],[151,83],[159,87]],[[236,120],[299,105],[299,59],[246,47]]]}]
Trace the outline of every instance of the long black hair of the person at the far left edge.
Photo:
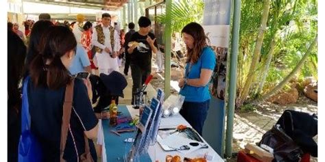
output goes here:
[{"label": "long black hair of the person at the far left edge", "polygon": [[19,110],[21,92],[19,83],[23,78],[26,46],[14,31],[8,30],[8,108]]}]

